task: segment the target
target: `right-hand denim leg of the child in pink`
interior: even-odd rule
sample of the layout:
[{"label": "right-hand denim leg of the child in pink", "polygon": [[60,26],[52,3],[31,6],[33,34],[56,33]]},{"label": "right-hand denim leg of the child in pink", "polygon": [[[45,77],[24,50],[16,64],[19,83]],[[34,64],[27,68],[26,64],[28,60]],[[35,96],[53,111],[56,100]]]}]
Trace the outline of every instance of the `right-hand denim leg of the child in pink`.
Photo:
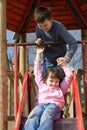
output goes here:
[{"label": "right-hand denim leg of the child in pink", "polygon": [[60,108],[56,104],[50,103],[41,116],[40,125],[37,130],[53,130],[54,118],[59,113]]}]

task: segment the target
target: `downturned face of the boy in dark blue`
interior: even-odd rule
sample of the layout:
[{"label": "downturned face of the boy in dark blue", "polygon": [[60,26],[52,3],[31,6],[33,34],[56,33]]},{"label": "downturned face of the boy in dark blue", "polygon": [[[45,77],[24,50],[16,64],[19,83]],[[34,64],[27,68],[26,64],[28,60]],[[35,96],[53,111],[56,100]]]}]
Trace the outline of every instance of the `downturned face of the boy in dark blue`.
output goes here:
[{"label": "downturned face of the boy in dark blue", "polygon": [[45,32],[48,32],[52,27],[52,19],[51,20],[46,19],[44,22],[38,23],[38,26]]}]

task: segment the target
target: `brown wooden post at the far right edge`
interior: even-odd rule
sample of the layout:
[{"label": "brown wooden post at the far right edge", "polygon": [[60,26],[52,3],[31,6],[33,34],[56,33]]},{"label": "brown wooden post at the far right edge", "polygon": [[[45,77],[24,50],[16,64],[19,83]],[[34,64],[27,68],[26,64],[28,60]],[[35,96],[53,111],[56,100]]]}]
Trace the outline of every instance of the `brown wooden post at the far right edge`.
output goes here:
[{"label": "brown wooden post at the far right edge", "polygon": [[[87,29],[82,30],[82,40],[87,40]],[[83,70],[84,70],[84,91],[85,91],[85,113],[87,118],[87,44],[82,45]]]}]

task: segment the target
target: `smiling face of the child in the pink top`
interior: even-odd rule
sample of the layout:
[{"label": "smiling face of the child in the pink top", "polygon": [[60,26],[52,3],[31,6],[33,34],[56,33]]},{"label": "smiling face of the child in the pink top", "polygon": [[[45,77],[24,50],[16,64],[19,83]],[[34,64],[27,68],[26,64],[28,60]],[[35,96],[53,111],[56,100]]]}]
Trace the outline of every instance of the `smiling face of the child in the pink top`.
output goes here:
[{"label": "smiling face of the child in the pink top", "polygon": [[59,86],[59,79],[58,78],[51,78],[48,76],[46,80],[46,84],[51,87],[58,87]]}]

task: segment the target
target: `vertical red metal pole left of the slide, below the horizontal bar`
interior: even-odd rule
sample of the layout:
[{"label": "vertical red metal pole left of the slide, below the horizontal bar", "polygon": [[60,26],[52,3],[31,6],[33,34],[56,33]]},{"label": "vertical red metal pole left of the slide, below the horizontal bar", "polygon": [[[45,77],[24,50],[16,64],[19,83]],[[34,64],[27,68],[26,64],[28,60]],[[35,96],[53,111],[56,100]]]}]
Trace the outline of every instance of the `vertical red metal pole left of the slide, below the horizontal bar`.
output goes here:
[{"label": "vertical red metal pole left of the slide, below the horizontal bar", "polygon": [[15,119],[18,110],[18,58],[17,58],[17,45],[14,47],[14,115]]}]

